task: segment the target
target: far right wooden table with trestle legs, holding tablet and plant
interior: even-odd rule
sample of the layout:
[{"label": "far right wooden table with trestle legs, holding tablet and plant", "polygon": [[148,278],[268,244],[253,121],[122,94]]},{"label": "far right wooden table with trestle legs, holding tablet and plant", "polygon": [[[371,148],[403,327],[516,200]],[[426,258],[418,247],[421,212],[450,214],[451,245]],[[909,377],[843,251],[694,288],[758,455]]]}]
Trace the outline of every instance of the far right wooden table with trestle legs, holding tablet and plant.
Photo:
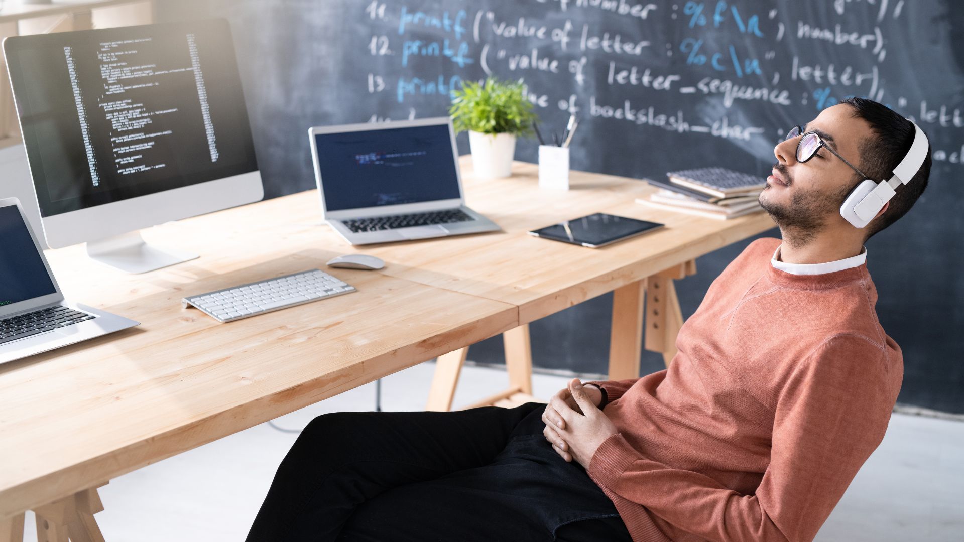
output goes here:
[{"label": "far right wooden table with trestle legs, holding tablet and plant", "polygon": [[[417,243],[345,246],[344,250],[403,263],[386,269],[394,277],[519,307],[520,328],[503,335],[509,388],[469,407],[512,406],[531,400],[527,324],[609,291],[615,290],[609,378],[639,376],[647,296],[645,345],[661,352],[668,366],[683,325],[673,280],[695,273],[696,257],[775,226],[763,212],[721,221],[653,209],[635,199],[655,189],[626,177],[572,172],[572,188],[560,191],[539,188],[535,164],[515,162],[511,177],[479,179],[472,173],[470,156],[463,156],[461,171],[469,206],[504,231]],[[594,212],[650,220],[666,228],[601,249],[526,233]],[[451,408],[467,353],[468,349],[460,349],[438,361],[428,410]]]}]

